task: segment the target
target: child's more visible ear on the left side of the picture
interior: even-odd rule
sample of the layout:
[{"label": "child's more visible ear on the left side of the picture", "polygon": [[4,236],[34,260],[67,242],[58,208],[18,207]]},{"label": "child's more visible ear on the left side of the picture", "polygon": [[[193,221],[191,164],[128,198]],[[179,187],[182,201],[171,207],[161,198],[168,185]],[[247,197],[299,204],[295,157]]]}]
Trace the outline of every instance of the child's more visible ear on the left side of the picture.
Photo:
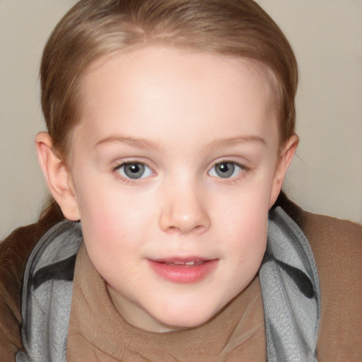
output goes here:
[{"label": "child's more visible ear on the left side of the picture", "polygon": [[47,132],[35,136],[37,159],[47,185],[62,212],[69,220],[79,220],[78,204],[73,180],[66,163],[53,149],[52,138]]}]

